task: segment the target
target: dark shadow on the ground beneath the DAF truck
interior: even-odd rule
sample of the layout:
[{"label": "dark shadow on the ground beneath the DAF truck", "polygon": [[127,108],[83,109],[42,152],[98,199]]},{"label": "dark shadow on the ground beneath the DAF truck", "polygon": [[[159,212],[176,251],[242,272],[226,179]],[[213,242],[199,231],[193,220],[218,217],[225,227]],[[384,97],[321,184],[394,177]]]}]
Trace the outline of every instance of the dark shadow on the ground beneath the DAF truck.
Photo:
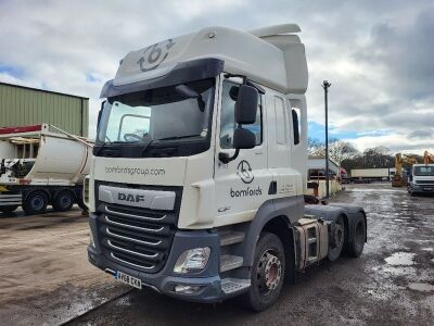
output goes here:
[{"label": "dark shadow on the ground beneath the DAF truck", "polygon": [[[310,267],[306,273],[298,273],[296,285],[286,281],[275,305],[263,313],[254,313],[245,309],[239,298],[222,303],[200,304],[168,298],[151,289],[133,290],[127,297],[115,302],[114,306],[111,304],[105,309],[111,314],[117,315],[115,319],[119,317],[126,324],[145,323],[153,325],[161,324],[164,321],[165,325],[183,325],[203,324],[206,321],[206,325],[221,325],[222,323],[232,325],[266,322],[267,319],[264,319],[266,316],[271,318],[269,322],[272,323],[283,312],[291,314],[291,306],[295,302],[298,306],[311,305],[314,303],[311,298],[317,297],[318,291],[323,291],[323,296],[331,294],[337,297],[337,299],[342,297],[341,299],[345,300],[345,293],[340,288],[335,287],[334,290],[329,288],[324,291],[323,287],[321,288],[318,285],[324,286],[324,283],[329,283],[329,287],[330,285],[333,286],[327,279],[334,275],[339,268],[342,269],[344,265],[349,264],[355,267],[352,261],[355,262],[355,260],[343,256],[337,262],[324,261],[320,265]],[[326,279],[324,274],[327,274]],[[306,296],[306,291],[311,293]]]}]

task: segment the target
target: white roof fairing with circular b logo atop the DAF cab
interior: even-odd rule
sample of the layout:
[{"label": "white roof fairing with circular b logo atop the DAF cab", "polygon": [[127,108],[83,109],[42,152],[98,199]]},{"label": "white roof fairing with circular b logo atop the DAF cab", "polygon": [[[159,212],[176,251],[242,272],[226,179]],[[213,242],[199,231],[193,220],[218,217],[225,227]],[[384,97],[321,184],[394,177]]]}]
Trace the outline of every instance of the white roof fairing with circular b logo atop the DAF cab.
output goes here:
[{"label": "white roof fairing with circular b logo atop the DAF cab", "polygon": [[[294,27],[296,25],[291,26],[277,30],[299,30]],[[272,32],[272,28],[267,30]],[[141,71],[140,62],[144,70],[153,67],[143,57],[146,52],[148,58],[152,48],[131,51],[122,60],[113,84],[119,86],[153,79],[166,75],[180,62],[217,58],[225,60],[226,72],[245,75],[283,93],[305,93],[308,74],[304,45],[295,35],[269,36],[268,32],[259,33],[267,35],[259,38],[232,28],[207,27],[164,40],[157,43],[162,51],[158,58],[162,58],[162,61],[165,58],[164,61],[156,68],[146,72]],[[153,63],[156,64],[157,62]]]}]

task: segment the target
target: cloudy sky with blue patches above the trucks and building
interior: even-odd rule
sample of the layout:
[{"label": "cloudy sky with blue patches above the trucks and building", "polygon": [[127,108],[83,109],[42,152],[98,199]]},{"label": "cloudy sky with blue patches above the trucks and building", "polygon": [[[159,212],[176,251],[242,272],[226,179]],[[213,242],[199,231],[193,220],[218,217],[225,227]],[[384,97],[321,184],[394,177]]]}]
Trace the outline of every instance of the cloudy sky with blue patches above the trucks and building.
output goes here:
[{"label": "cloudy sky with blue patches above the trucks and building", "polygon": [[297,23],[309,65],[309,136],[357,149],[434,149],[434,1],[0,0],[0,80],[90,98],[129,50],[206,26]]}]

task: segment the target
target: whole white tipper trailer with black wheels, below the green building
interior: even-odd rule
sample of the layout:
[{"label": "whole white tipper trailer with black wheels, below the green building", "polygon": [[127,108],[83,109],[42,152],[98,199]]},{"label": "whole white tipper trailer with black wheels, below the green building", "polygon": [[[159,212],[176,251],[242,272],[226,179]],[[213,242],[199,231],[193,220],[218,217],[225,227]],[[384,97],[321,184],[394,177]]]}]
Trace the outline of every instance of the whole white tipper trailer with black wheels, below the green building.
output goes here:
[{"label": "whole white tipper trailer with black wheels, below the green building", "polygon": [[43,213],[82,204],[92,143],[48,124],[0,128],[0,212]]}]

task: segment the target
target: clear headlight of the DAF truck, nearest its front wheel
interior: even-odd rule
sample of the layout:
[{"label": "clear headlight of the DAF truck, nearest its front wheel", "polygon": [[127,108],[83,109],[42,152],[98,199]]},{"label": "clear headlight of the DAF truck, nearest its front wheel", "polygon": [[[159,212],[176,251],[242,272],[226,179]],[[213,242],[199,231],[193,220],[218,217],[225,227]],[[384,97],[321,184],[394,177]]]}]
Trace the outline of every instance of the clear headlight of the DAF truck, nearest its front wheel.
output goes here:
[{"label": "clear headlight of the DAF truck, nearest its front wheel", "polygon": [[209,253],[209,247],[194,248],[182,252],[175,264],[174,272],[181,274],[202,272],[208,263]]}]

